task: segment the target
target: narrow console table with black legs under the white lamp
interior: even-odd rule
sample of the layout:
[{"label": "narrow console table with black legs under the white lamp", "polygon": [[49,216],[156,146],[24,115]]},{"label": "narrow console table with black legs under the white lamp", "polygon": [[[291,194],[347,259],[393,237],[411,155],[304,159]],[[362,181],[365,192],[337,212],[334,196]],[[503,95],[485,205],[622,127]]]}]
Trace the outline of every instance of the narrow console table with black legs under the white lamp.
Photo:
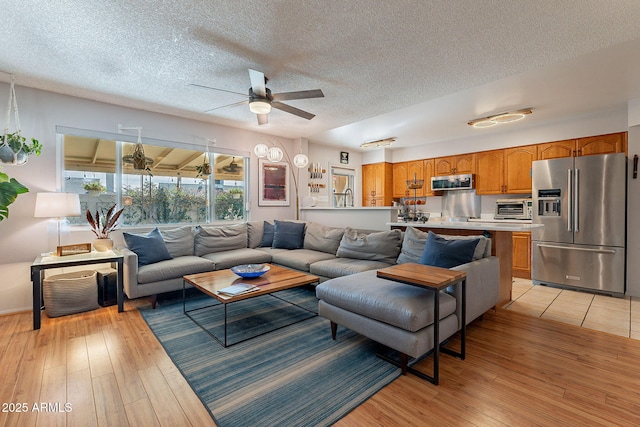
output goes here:
[{"label": "narrow console table with black legs under the white lamp", "polygon": [[[124,256],[115,251],[89,252],[86,254],[55,256],[41,255],[31,264],[31,282],[33,283],[33,329],[40,329],[42,310],[42,280],[44,270],[50,268],[77,267],[81,265],[111,263],[118,271],[117,300],[118,312],[124,311],[123,269]],[[98,284],[96,283],[96,286]]]}]

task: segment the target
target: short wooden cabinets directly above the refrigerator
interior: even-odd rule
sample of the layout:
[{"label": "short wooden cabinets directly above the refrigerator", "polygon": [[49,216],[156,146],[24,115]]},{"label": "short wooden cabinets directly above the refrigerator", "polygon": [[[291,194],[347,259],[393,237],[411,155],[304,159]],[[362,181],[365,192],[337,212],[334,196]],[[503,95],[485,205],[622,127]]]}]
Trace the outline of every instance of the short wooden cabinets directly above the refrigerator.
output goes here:
[{"label": "short wooden cabinets directly above the refrigerator", "polygon": [[538,144],[538,160],[627,152],[627,132]]}]

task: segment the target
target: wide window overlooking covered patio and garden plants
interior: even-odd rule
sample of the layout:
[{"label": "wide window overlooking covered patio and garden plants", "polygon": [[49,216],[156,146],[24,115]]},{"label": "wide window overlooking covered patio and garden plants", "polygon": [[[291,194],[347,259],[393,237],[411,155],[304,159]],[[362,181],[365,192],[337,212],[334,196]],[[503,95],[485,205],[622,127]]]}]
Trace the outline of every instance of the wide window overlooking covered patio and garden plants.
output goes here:
[{"label": "wide window overlooking covered patio and garden plants", "polygon": [[[123,225],[246,218],[242,156],[74,135],[64,135],[63,147],[64,191],[80,194],[83,212],[118,204]],[[146,157],[143,169],[132,161],[136,148]],[[70,221],[86,223],[84,216]]]}]

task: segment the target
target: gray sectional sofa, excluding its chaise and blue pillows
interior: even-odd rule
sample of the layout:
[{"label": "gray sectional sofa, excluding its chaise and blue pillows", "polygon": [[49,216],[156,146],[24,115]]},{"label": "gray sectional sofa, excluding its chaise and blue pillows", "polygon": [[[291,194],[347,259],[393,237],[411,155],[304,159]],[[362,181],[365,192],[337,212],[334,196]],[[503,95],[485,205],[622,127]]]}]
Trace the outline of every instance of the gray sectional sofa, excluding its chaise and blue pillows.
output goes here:
[{"label": "gray sectional sofa, excluding its chaise and blue pillows", "polygon": [[[284,229],[285,224],[302,227],[299,248],[281,247],[288,247],[296,236],[285,235],[284,243],[280,239],[279,244],[274,243],[277,239],[268,239],[273,225],[264,221],[161,230],[161,245],[166,246],[168,254],[164,259],[144,265],[139,265],[138,255],[140,259],[145,258],[139,248],[134,248],[138,250],[136,253],[132,248],[122,246],[119,249],[124,254],[125,293],[129,298],[156,296],[182,289],[184,275],[253,263],[273,263],[308,272],[324,282],[396,263],[419,262],[426,240],[426,233],[413,228],[406,232],[380,232],[326,227],[314,222],[275,223],[278,223],[276,230]],[[265,224],[269,228],[266,233]],[[498,298],[498,259],[491,256],[491,240],[482,240],[483,244],[476,247],[473,260],[455,267],[467,273],[468,322],[492,308]]]}]

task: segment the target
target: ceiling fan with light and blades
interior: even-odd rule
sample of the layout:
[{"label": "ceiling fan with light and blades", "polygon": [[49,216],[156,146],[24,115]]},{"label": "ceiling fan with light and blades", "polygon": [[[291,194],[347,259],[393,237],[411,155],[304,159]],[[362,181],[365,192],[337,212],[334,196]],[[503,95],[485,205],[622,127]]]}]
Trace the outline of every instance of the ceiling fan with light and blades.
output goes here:
[{"label": "ceiling fan with light and blades", "polygon": [[[300,110],[299,108],[292,107],[291,105],[284,104],[280,101],[288,101],[293,99],[309,99],[309,98],[323,98],[324,94],[320,89],[313,90],[301,90],[297,92],[282,92],[271,93],[271,90],[267,87],[269,79],[260,71],[249,69],[249,79],[251,80],[251,87],[249,88],[248,99],[244,101],[235,102],[229,105],[223,105],[222,107],[212,108],[206,112],[219,110],[220,108],[235,107],[237,105],[249,104],[249,110],[255,113],[258,117],[258,124],[265,125],[269,122],[268,114],[271,112],[271,108],[277,108],[278,110],[285,111],[290,114],[294,114],[298,117],[302,117],[307,120],[311,120],[315,117],[315,114],[311,114],[307,111]],[[247,96],[244,93],[233,92],[226,89],[218,89],[209,86],[203,86],[198,84],[190,84],[190,86],[202,87],[205,89],[220,90],[223,92],[235,93],[242,96]]]}]

